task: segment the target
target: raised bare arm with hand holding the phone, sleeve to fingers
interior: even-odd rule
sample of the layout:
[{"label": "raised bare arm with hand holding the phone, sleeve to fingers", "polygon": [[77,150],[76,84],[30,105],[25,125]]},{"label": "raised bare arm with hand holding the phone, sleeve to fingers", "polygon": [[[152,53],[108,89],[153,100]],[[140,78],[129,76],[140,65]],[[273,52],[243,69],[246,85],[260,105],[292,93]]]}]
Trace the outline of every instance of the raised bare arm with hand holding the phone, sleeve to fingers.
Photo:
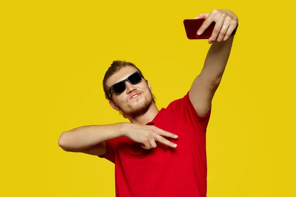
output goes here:
[{"label": "raised bare arm with hand holding the phone, sleeve to fingers", "polygon": [[208,114],[212,99],[220,85],[234,38],[231,33],[237,28],[238,19],[229,10],[213,10],[208,14],[200,14],[195,19],[206,19],[199,29],[200,33],[203,33],[213,21],[216,22],[208,41],[213,44],[200,74],[195,78],[189,90],[190,101],[197,114],[203,117]]}]

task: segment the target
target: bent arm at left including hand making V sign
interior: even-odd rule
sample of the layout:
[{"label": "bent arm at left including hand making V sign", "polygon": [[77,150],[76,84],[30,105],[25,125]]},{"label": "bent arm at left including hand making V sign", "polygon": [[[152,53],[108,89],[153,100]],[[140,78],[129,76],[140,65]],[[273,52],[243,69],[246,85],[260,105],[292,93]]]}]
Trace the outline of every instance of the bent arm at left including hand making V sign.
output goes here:
[{"label": "bent arm at left including hand making V sign", "polygon": [[102,156],[106,153],[105,141],[126,136],[141,143],[144,149],[155,148],[158,141],[175,148],[177,145],[162,136],[177,138],[168,131],[151,125],[115,123],[112,125],[90,125],[64,131],[59,138],[59,146],[68,152],[81,152]]}]

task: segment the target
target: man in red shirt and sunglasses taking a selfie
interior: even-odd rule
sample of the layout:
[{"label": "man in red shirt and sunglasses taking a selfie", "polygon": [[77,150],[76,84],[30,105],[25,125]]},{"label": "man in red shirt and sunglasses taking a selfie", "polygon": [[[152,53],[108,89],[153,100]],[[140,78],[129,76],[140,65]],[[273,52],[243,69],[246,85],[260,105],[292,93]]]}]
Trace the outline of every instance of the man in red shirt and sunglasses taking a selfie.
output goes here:
[{"label": "man in red shirt and sunglasses taking a selfie", "polygon": [[206,128],[238,18],[229,10],[213,10],[195,19],[206,19],[198,34],[213,21],[216,25],[204,67],[183,98],[158,110],[142,72],[132,63],[114,61],[104,91],[111,107],[130,123],[79,127],[59,138],[65,151],[115,164],[116,196],[206,197]]}]

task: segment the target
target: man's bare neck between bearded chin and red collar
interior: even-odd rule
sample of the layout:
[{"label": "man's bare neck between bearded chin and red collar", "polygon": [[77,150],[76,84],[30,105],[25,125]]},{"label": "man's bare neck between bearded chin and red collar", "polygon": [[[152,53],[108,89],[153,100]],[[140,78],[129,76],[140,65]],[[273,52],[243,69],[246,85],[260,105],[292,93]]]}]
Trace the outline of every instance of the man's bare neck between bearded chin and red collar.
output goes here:
[{"label": "man's bare neck between bearded chin and red collar", "polygon": [[158,112],[159,110],[157,109],[156,105],[152,102],[152,104],[149,106],[148,110],[144,114],[140,114],[136,117],[132,117],[129,115],[126,116],[131,123],[146,125],[146,123],[153,120],[153,118],[157,115]]}]

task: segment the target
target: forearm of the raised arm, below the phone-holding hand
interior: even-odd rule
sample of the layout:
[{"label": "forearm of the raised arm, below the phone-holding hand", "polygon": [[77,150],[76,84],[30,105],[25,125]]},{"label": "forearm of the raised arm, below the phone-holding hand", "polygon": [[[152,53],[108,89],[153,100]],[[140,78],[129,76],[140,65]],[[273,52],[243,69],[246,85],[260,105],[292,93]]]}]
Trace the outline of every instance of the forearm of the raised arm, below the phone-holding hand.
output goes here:
[{"label": "forearm of the raised arm, below the phone-holding hand", "polygon": [[232,35],[224,42],[214,42],[211,45],[200,73],[203,80],[220,82],[230,55],[233,38]]}]

